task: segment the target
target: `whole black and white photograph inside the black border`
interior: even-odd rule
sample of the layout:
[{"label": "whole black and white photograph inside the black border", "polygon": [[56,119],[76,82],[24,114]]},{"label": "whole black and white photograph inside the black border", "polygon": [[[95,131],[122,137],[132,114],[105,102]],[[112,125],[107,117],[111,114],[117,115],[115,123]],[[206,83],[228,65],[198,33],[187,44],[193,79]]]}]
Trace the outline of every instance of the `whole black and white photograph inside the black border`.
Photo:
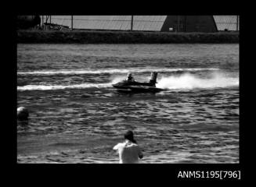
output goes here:
[{"label": "whole black and white photograph inside the black border", "polygon": [[240,164],[240,16],[16,17],[17,164]]}]

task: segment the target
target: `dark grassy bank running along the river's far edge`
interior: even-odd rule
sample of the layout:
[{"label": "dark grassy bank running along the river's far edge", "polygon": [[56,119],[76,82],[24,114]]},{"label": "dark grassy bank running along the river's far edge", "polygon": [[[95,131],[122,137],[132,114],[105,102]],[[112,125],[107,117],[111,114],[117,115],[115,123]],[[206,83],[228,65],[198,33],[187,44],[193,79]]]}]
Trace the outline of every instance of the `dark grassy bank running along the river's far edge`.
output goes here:
[{"label": "dark grassy bank running along the river's far edge", "polygon": [[17,42],[23,44],[231,44],[239,43],[239,33],[18,30]]}]

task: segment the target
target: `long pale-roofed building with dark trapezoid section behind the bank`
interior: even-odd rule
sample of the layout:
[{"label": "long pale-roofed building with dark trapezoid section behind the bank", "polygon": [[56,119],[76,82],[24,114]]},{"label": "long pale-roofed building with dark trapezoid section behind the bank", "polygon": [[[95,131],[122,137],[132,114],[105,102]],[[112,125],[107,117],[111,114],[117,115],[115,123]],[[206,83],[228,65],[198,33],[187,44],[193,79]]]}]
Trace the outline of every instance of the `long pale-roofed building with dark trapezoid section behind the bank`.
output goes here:
[{"label": "long pale-roofed building with dark trapezoid section behind the bank", "polygon": [[[239,30],[238,16],[48,16],[48,23],[79,30],[218,32]],[[45,21],[43,20],[45,23]]]}]

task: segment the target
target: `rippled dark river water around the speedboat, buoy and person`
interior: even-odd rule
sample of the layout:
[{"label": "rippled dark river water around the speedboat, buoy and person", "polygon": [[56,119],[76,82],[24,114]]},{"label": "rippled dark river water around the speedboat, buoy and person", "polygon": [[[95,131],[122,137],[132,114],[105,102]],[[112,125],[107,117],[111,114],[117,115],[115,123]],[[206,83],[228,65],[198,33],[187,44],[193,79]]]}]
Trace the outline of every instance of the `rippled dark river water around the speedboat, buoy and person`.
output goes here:
[{"label": "rippled dark river water around the speedboat, buoy and person", "polygon": [[239,163],[239,44],[18,44],[17,104],[18,163],[118,163],[127,130],[141,163]]}]

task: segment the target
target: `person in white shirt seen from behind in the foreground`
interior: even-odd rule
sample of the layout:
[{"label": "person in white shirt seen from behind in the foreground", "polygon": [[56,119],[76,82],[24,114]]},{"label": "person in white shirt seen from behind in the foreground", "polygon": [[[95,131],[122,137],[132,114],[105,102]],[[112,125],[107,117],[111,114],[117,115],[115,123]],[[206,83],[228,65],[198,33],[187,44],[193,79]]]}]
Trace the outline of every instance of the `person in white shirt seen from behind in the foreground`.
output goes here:
[{"label": "person in white shirt seen from behind in the foreground", "polygon": [[139,158],[143,157],[142,150],[130,130],[124,134],[124,143],[118,143],[113,149],[119,153],[120,164],[139,164]]}]

